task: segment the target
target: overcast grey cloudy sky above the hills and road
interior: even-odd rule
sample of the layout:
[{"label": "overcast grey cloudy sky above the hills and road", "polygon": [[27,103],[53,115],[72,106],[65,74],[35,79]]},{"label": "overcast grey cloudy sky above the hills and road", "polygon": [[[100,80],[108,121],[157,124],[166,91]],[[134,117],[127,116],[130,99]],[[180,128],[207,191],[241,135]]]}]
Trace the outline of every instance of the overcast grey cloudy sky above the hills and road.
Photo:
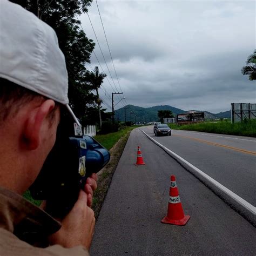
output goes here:
[{"label": "overcast grey cloudy sky above the hills and road", "polygon": [[[124,96],[114,95],[114,103],[125,100],[115,109],[126,104],[171,105],[218,113],[230,110],[232,102],[256,103],[256,82],[240,72],[256,48],[254,0],[97,3],[119,83],[95,1],[89,17],[107,66],[88,16],[79,19],[96,42],[100,71],[107,74],[100,90],[106,105],[111,106],[111,92],[121,90]],[[99,66],[92,55],[91,66],[95,65]]]}]

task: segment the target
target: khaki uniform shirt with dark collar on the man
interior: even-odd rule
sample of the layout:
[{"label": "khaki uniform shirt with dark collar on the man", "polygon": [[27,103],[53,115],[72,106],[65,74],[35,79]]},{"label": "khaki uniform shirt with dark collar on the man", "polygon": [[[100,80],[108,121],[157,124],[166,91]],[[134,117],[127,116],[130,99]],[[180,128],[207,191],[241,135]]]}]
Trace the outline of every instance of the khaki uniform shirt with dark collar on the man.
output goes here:
[{"label": "khaki uniform shirt with dark collar on the man", "polygon": [[82,246],[48,246],[48,235],[60,228],[58,221],[18,194],[0,187],[0,255],[83,255]]}]

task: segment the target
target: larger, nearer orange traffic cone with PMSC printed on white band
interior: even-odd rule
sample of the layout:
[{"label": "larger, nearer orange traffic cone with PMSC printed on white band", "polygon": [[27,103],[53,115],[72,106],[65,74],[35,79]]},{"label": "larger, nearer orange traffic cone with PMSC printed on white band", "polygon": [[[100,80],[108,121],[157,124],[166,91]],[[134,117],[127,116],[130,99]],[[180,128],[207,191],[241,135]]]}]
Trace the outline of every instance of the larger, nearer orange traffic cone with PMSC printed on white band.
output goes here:
[{"label": "larger, nearer orange traffic cone with PMSC printed on white band", "polygon": [[190,216],[184,215],[183,208],[179,198],[179,191],[176,185],[175,176],[171,176],[170,199],[168,204],[167,216],[161,220],[161,223],[185,225]]}]

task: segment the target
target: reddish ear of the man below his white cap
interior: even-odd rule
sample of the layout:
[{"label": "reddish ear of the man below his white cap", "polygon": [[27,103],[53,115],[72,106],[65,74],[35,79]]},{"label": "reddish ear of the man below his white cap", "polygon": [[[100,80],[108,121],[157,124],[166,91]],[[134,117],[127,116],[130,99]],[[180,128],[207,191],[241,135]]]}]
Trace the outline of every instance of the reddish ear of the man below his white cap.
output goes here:
[{"label": "reddish ear of the man below his white cap", "polygon": [[41,132],[43,130],[42,127],[45,125],[45,122],[49,125],[47,117],[54,107],[55,102],[52,99],[46,99],[41,105],[36,106],[28,113],[23,132],[27,149],[35,150],[39,146],[42,135]]}]

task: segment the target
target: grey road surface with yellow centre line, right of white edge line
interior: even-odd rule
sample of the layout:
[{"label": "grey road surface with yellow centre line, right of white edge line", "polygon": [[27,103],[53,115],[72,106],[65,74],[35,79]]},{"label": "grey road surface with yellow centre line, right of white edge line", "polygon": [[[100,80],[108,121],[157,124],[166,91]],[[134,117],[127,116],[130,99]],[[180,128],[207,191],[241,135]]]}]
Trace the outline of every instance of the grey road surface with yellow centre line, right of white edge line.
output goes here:
[{"label": "grey road surface with yellow centre line, right of white edge line", "polygon": [[256,206],[256,139],[173,130],[171,137],[147,134],[219,183]]}]

